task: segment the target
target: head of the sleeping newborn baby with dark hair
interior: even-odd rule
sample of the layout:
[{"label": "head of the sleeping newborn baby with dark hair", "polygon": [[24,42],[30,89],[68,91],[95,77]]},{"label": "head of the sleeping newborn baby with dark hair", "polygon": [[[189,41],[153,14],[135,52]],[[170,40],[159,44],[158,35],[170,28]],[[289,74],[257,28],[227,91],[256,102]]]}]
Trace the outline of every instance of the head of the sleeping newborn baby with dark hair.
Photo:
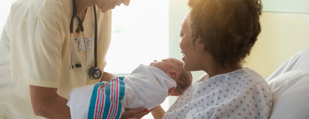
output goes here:
[{"label": "head of the sleeping newborn baby with dark hair", "polygon": [[169,95],[179,96],[192,84],[192,74],[184,71],[183,62],[180,60],[175,58],[166,58],[161,61],[154,60],[149,66],[161,69],[175,80],[177,87],[174,92],[171,91],[173,89],[170,89],[169,92],[173,93],[169,93]]}]

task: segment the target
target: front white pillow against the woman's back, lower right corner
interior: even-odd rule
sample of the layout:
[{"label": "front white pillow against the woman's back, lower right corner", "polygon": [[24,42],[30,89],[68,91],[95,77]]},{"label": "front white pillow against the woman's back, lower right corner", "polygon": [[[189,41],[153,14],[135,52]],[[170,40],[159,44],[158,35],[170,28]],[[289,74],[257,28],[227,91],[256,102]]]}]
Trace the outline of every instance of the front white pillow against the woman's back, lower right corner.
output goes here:
[{"label": "front white pillow against the woman's back, lower right corner", "polygon": [[269,119],[309,119],[309,70],[292,70],[267,83],[273,96]]}]

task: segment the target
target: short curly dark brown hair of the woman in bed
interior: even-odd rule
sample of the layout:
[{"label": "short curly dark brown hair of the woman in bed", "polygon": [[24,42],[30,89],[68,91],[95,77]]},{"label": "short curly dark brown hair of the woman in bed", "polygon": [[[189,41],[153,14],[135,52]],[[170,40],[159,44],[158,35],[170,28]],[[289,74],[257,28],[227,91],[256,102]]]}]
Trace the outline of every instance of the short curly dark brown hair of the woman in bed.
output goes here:
[{"label": "short curly dark brown hair of the woman in bed", "polygon": [[200,37],[221,67],[243,63],[261,32],[261,0],[189,0],[188,6],[193,45]]}]

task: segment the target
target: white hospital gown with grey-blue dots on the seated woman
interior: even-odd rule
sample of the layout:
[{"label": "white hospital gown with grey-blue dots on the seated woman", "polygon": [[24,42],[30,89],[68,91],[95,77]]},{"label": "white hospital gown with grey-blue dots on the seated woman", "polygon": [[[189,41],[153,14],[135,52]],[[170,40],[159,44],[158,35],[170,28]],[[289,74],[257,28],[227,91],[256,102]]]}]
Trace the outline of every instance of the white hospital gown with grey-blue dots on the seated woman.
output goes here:
[{"label": "white hospital gown with grey-blue dots on the seated woman", "polygon": [[163,119],[267,119],[271,93],[263,77],[244,68],[190,86]]}]

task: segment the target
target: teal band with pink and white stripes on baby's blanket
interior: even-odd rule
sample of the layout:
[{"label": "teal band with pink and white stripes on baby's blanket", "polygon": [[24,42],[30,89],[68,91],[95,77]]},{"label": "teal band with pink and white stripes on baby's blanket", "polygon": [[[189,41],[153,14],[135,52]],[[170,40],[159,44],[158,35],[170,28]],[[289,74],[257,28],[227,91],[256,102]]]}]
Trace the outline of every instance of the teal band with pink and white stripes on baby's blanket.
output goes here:
[{"label": "teal band with pink and white stripes on baby's blanket", "polygon": [[125,93],[123,79],[124,77],[115,77],[108,83],[100,82],[94,86],[88,119],[119,119],[121,117],[122,105],[120,101]]}]

